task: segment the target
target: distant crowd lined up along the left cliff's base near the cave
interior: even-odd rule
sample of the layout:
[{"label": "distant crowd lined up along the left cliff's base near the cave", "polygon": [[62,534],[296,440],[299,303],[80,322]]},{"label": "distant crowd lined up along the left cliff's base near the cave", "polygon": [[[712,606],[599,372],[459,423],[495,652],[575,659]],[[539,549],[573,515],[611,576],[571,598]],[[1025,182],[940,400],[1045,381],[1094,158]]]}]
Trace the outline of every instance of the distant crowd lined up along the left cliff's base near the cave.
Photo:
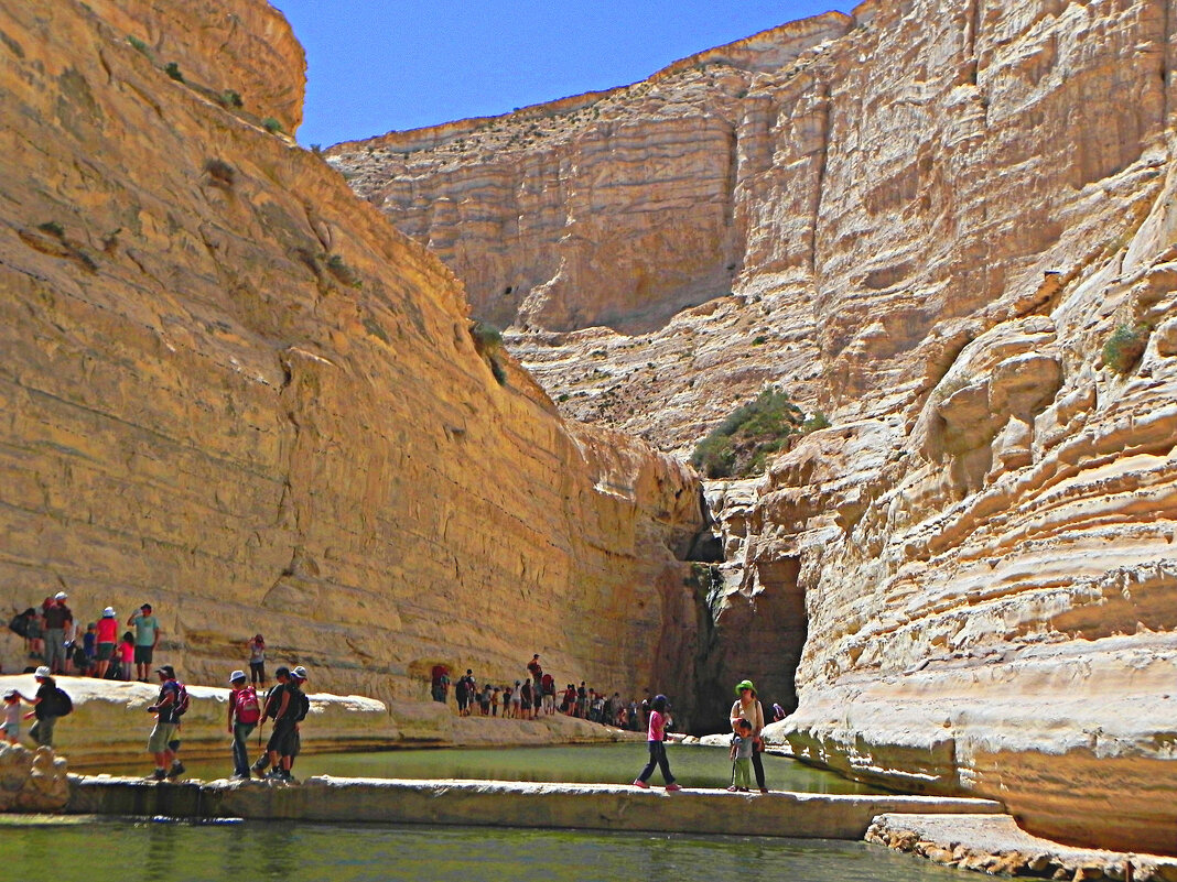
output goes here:
[{"label": "distant crowd lined up along the left cliff's base near the cave", "polygon": [[450,670],[444,664],[434,666],[431,674],[430,695],[433,701],[447,704],[453,688],[459,716],[501,716],[506,720],[536,720],[540,716],[564,714],[590,722],[613,726],[619,729],[641,731],[646,726],[650,700],[621,699],[620,693],[609,695],[586,687],[568,683],[558,688],[556,679],[539,661],[539,653],[532,655],[526,673],[513,683],[481,684],[471,668],[451,683]]}]

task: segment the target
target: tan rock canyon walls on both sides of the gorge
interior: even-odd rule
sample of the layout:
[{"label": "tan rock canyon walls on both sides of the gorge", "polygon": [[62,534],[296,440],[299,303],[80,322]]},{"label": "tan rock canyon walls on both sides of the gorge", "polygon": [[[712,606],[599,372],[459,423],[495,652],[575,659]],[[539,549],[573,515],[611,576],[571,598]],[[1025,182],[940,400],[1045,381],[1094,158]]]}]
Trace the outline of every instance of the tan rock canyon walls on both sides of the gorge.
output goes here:
[{"label": "tan rock canyon walls on both sides of the gorge", "polygon": [[[264,0],[0,8],[2,596],[394,714],[751,676],[797,756],[1177,854],[1175,7],[867,0],[321,153]],[[827,426],[700,483],[770,386]]]}]

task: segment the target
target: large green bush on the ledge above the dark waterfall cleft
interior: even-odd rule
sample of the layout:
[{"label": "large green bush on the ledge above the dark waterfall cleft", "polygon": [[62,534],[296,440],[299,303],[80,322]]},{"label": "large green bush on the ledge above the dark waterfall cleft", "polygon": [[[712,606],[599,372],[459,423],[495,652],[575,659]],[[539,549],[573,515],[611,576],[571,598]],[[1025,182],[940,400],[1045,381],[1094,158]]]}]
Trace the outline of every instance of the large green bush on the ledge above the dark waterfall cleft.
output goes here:
[{"label": "large green bush on the ledge above the dark waterfall cleft", "polygon": [[736,408],[698,443],[691,465],[707,477],[747,477],[763,472],[769,456],[780,450],[790,435],[829,425],[824,414],[806,420],[789,395],[765,389]]}]

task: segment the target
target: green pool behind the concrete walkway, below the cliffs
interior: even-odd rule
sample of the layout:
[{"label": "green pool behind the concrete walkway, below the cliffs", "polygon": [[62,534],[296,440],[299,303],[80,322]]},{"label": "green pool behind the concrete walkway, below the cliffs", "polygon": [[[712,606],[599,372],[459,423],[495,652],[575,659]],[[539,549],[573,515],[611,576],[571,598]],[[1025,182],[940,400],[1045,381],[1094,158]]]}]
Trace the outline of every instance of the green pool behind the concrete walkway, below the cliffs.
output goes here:
[{"label": "green pool behind the concrete walkway, below the cliffs", "polygon": [[[254,748],[254,744],[251,744]],[[726,787],[731,783],[727,750],[699,744],[671,744],[666,749],[671,771],[683,787]],[[251,756],[260,755],[254,749]],[[146,757],[145,757],[146,759]],[[435,750],[384,750],[360,754],[318,754],[298,759],[295,777],[334,775],[337,777],[390,779],[474,779],[496,781],[565,781],[572,783],[627,784],[649,759],[645,743],[580,744],[513,748],[444,748]],[[211,781],[227,777],[233,763],[225,759],[185,761],[186,777]],[[114,774],[151,770],[151,763],[128,770],[102,769]],[[783,756],[764,756],[766,783],[772,790],[805,793],[884,793],[831,771],[813,769]],[[651,783],[661,783],[657,770]]]}]

